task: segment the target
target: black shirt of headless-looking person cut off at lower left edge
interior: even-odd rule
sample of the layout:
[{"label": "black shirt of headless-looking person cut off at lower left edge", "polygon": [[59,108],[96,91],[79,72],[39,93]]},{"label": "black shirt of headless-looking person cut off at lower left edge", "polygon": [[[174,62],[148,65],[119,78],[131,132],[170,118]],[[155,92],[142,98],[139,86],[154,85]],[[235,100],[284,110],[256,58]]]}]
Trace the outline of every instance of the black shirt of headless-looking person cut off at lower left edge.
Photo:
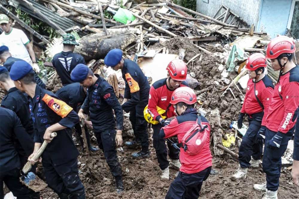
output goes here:
[{"label": "black shirt of headless-looking person cut off at lower left edge", "polygon": [[15,112],[0,107],[0,171],[1,175],[9,170],[20,168],[20,158],[15,149],[15,139],[22,144],[27,156],[32,153],[33,140],[26,133]]}]

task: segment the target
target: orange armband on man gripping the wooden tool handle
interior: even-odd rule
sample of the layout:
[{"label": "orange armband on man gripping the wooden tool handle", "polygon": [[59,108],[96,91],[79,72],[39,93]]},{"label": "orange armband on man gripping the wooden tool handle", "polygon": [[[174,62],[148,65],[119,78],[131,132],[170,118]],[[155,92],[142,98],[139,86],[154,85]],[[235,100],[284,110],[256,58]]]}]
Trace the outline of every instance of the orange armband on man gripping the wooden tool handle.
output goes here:
[{"label": "orange armband on man gripping the wooden tool handle", "polygon": [[68,106],[64,101],[56,99],[48,94],[45,94],[42,101],[62,118],[65,118],[73,110],[73,108]]}]

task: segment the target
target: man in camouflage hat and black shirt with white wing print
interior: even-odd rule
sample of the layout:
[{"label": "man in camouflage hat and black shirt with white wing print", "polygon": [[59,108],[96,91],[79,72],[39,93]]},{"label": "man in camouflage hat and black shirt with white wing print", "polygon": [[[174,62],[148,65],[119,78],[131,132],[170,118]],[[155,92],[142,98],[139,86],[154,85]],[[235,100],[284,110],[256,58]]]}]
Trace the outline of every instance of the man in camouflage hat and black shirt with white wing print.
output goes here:
[{"label": "man in camouflage hat and black shirt with white wing print", "polygon": [[71,72],[77,64],[85,64],[85,60],[81,55],[73,53],[75,46],[79,45],[74,35],[68,33],[63,35],[62,39],[63,50],[61,53],[54,55],[52,64],[60,77],[62,85],[65,86],[74,83],[71,80]]}]

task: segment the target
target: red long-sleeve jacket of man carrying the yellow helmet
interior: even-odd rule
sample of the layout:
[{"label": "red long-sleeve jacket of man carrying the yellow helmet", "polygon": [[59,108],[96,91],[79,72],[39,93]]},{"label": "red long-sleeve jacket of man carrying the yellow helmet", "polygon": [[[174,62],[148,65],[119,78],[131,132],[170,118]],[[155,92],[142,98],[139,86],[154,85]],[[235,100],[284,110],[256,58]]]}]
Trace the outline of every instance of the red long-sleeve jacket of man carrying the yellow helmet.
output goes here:
[{"label": "red long-sleeve jacket of man carrying the yellow helmet", "polygon": [[[169,103],[174,90],[170,90],[167,87],[166,80],[167,78],[156,81],[152,84],[149,90],[148,110],[152,118],[157,121],[159,121],[161,116],[159,115],[156,106],[167,110],[167,118],[175,116],[174,108]],[[188,84],[183,81],[181,86],[188,86]]]}]

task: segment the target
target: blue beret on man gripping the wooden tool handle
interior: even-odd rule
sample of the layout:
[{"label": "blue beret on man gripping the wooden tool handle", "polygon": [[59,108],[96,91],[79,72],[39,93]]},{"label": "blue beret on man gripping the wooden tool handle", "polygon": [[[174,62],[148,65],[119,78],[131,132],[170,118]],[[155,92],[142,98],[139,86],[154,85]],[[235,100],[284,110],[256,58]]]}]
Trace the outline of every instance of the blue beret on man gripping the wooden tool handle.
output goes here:
[{"label": "blue beret on man gripping the wooden tool handle", "polygon": [[10,78],[13,81],[22,79],[28,73],[33,73],[33,69],[27,61],[16,61],[10,68]]}]

